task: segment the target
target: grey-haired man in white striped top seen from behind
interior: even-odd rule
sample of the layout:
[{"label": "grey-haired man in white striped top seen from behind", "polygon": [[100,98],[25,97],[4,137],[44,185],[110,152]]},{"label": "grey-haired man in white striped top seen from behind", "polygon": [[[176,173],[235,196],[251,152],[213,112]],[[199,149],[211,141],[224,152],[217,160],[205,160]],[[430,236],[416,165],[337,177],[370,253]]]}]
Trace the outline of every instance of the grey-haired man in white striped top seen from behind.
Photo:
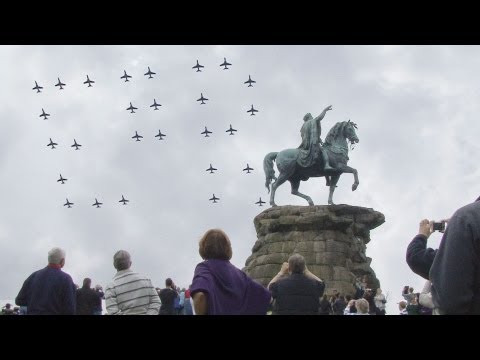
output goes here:
[{"label": "grey-haired man in white striped top seen from behind", "polygon": [[160,298],[150,279],[130,270],[132,260],[125,250],[113,256],[117,273],[105,290],[109,315],[158,315]]}]

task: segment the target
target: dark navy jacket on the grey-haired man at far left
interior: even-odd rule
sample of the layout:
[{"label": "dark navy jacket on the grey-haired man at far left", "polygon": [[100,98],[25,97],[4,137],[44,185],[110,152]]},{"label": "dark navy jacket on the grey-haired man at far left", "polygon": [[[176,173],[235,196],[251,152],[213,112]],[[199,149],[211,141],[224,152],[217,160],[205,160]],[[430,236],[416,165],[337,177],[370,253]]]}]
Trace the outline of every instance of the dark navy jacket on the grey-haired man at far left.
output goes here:
[{"label": "dark navy jacket on the grey-haired man at far left", "polygon": [[61,269],[47,266],[23,283],[15,304],[28,307],[28,315],[75,315],[75,285]]}]

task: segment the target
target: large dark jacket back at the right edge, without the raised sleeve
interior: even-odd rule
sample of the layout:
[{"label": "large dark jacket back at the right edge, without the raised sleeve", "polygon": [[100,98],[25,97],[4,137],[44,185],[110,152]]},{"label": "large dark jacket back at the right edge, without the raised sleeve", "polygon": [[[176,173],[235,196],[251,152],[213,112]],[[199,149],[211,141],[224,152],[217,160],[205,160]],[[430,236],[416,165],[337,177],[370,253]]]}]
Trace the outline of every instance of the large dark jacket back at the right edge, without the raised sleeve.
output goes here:
[{"label": "large dark jacket back at the right edge, without the raised sleeve", "polygon": [[480,202],[453,214],[430,279],[432,300],[440,313],[480,314]]}]

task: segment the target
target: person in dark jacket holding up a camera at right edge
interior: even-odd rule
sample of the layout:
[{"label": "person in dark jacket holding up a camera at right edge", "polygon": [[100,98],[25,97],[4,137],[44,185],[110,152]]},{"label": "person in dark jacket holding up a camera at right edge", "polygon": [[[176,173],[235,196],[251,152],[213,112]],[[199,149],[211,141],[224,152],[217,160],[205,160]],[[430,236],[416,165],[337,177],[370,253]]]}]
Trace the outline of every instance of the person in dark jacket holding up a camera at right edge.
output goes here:
[{"label": "person in dark jacket holding up a camera at right edge", "polygon": [[[419,234],[408,246],[408,265],[431,281],[436,314],[480,314],[479,200],[458,209],[449,220],[422,220]],[[444,232],[438,250],[427,248],[427,239],[435,230]]]}]

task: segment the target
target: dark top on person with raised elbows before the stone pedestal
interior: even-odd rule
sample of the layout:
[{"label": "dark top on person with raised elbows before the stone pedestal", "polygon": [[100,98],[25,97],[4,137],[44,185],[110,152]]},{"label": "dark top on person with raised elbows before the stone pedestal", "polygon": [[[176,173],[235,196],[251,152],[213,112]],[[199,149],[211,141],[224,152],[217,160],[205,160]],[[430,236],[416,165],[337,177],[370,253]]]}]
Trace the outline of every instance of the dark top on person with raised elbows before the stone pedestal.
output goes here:
[{"label": "dark top on person with raised elbows before the stone pedestal", "polygon": [[275,315],[313,315],[318,314],[320,297],[325,284],[309,279],[303,274],[291,274],[270,285],[275,300]]}]

